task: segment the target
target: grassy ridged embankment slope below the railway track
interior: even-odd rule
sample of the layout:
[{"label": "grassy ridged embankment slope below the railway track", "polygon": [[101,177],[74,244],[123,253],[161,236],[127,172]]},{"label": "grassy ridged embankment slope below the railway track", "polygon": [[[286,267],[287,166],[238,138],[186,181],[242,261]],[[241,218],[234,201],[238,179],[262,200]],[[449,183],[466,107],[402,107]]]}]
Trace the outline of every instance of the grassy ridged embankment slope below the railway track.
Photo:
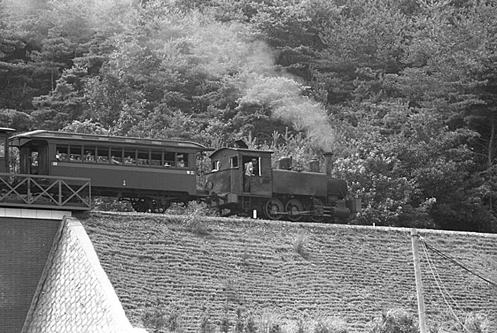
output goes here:
[{"label": "grassy ridged embankment slope below the railway track", "polygon": [[[339,316],[349,332],[365,332],[382,310],[417,311],[408,229],[212,218],[189,224],[185,217],[143,214],[79,218],[136,325],[157,302],[174,308],[187,332],[195,332],[206,315],[219,325],[227,314],[232,325],[237,307],[288,318]],[[497,281],[497,235],[420,234]],[[302,256],[294,242],[304,236]],[[430,318],[449,311],[432,275],[436,269],[457,313],[496,320],[496,288],[434,254],[430,269],[421,254]]]}]

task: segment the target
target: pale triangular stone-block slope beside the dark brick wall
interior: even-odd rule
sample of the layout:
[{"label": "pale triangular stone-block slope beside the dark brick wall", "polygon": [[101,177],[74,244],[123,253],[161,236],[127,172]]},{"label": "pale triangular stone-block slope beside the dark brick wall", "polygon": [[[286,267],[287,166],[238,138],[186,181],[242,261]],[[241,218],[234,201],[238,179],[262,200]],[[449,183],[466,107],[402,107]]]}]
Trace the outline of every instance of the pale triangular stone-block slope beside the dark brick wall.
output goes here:
[{"label": "pale triangular stone-block slope beside the dark brick wall", "polygon": [[31,332],[146,332],[129,323],[77,219],[55,236],[22,331]]}]

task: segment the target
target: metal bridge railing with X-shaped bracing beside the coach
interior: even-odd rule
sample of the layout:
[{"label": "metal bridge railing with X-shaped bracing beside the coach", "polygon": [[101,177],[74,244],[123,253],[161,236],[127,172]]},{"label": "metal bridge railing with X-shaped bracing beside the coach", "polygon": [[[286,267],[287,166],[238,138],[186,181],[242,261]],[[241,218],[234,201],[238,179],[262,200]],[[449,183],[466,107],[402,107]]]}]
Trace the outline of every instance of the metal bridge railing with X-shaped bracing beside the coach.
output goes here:
[{"label": "metal bridge railing with X-shaped bracing beside the coach", "polygon": [[89,210],[89,178],[0,173],[0,207]]}]

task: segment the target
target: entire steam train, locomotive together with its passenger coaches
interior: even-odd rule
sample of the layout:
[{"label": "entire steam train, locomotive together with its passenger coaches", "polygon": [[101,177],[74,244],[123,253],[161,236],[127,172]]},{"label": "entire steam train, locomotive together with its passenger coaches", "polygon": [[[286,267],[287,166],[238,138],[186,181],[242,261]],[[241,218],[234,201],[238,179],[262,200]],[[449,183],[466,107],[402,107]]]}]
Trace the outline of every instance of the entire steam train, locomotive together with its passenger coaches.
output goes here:
[{"label": "entire steam train, locomotive together with its passenger coaches", "polygon": [[[220,148],[212,168],[198,173],[198,156],[214,151],[191,141],[156,140],[58,131],[13,135],[0,128],[0,207],[87,210],[92,196],[129,200],[136,212],[165,212],[172,203],[206,202],[222,215],[268,219],[346,218],[360,209],[346,201],[344,180],[292,170],[291,160],[271,167],[271,151]],[[9,156],[11,155],[11,156]],[[325,156],[329,170],[331,156]],[[244,177],[253,160],[253,175]],[[245,180],[244,180],[245,179]]]}]

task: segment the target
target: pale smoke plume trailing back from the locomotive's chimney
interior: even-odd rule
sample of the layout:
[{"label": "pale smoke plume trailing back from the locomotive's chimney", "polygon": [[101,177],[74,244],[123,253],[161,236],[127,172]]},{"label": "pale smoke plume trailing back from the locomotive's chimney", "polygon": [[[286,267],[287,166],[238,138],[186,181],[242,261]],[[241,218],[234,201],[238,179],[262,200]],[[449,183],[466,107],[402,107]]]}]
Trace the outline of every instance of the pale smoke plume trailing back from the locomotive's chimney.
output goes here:
[{"label": "pale smoke plume trailing back from the locomotive's chimney", "polygon": [[297,77],[275,65],[276,51],[258,40],[256,31],[246,24],[219,23],[191,13],[179,21],[164,22],[160,38],[164,50],[182,50],[168,55],[169,63],[185,63],[213,79],[230,81],[238,88],[239,107],[268,107],[273,119],[306,133],[315,146],[325,151],[332,148],[335,131],[326,109],[304,95],[306,87]]}]

